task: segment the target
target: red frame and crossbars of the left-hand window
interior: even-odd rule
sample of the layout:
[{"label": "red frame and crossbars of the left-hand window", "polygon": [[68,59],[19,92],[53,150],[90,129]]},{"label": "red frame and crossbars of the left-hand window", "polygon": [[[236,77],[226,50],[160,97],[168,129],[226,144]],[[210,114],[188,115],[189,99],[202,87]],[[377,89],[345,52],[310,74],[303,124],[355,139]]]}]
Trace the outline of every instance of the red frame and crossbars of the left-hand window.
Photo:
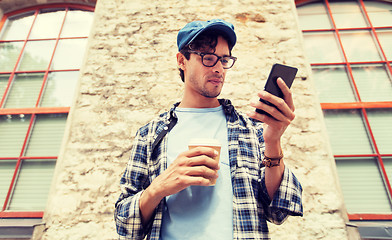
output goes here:
[{"label": "red frame and crossbars of the left-hand window", "polygon": [[[64,18],[61,22],[59,34],[55,38],[45,38],[45,39],[39,38],[39,39],[34,39],[34,40],[29,39],[29,35],[31,33],[32,26],[34,25],[34,22],[37,19],[38,13],[43,9],[55,9],[55,8],[65,9],[65,14],[64,14]],[[70,107],[39,107],[39,104],[42,100],[43,92],[44,92],[44,89],[46,86],[46,82],[48,80],[49,73],[51,73],[51,72],[65,72],[65,71],[80,71],[80,67],[77,69],[61,69],[61,70],[51,70],[50,69],[51,63],[52,63],[54,55],[55,55],[55,50],[58,47],[60,40],[62,40],[62,39],[88,39],[88,36],[86,36],[86,37],[61,37],[61,30],[64,27],[66,16],[70,10],[84,10],[84,11],[94,12],[95,7],[89,6],[89,5],[83,5],[83,4],[76,4],[76,3],[44,4],[44,5],[37,5],[37,6],[33,6],[33,7],[23,8],[20,10],[4,13],[3,17],[0,19],[0,31],[1,31],[3,29],[3,27],[5,26],[5,23],[8,18],[13,17],[13,16],[17,16],[20,14],[28,13],[28,12],[34,12],[33,13],[34,19],[31,23],[30,29],[29,29],[28,34],[26,35],[25,39],[17,40],[17,41],[15,41],[15,40],[0,40],[0,43],[2,43],[2,42],[23,42],[23,47],[19,53],[19,56],[17,58],[17,61],[15,63],[14,68],[12,69],[12,71],[0,72],[0,74],[9,75],[8,83],[7,83],[7,86],[5,87],[4,92],[0,93],[0,97],[1,97],[1,99],[0,99],[0,115],[21,115],[21,114],[31,115],[28,130],[27,130],[26,136],[24,137],[23,146],[22,146],[21,153],[19,154],[19,156],[18,157],[11,157],[11,158],[0,156],[0,161],[1,160],[14,160],[14,161],[16,161],[15,170],[14,170],[14,173],[13,173],[5,200],[4,200],[4,202],[0,203],[0,218],[42,218],[44,215],[44,211],[11,211],[11,210],[7,210],[7,207],[9,206],[9,203],[10,203],[11,195],[14,190],[18,174],[20,172],[20,167],[21,167],[22,161],[27,160],[27,159],[30,159],[30,160],[51,159],[51,160],[57,161],[57,158],[58,158],[58,156],[38,156],[38,157],[34,156],[34,157],[31,157],[31,156],[24,156],[23,154],[26,150],[26,145],[27,145],[29,137],[32,133],[31,130],[33,128],[33,125],[34,125],[34,122],[36,120],[37,115],[68,114],[70,112]],[[54,47],[53,52],[51,54],[51,58],[50,58],[48,66],[46,67],[46,70],[42,70],[42,71],[16,71],[16,68],[21,61],[22,55],[24,53],[24,49],[25,49],[28,41],[38,41],[38,40],[55,40],[56,41],[55,47]],[[3,108],[4,102],[7,97],[6,95],[7,95],[7,93],[9,93],[9,90],[10,90],[12,81],[15,78],[15,75],[19,74],[19,73],[36,73],[36,72],[43,73],[44,77],[43,77],[43,82],[42,82],[41,89],[39,91],[39,96],[37,98],[37,102],[35,103],[35,106],[31,107],[31,108]]]}]

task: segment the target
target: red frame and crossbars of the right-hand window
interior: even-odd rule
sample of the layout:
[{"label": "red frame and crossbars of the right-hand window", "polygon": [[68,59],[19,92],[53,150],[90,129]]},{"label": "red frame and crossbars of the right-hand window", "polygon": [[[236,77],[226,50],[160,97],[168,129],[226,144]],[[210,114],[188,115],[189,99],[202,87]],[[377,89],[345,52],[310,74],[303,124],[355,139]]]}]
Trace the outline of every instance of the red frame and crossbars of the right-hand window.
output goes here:
[{"label": "red frame and crossbars of the right-hand window", "polygon": [[[359,90],[358,87],[355,83],[354,76],[353,76],[353,70],[352,66],[353,65],[360,65],[360,64],[366,64],[366,65],[372,65],[372,64],[383,64],[386,66],[387,71],[389,71],[390,76],[392,76],[392,59],[388,59],[387,55],[382,48],[382,44],[379,40],[377,30],[384,30],[384,29],[392,29],[392,26],[383,26],[383,27],[374,27],[372,25],[372,21],[369,17],[369,14],[366,10],[366,6],[363,0],[355,0],[353,2],[356,2],[359,4],[361,8],[361,12],[365,18],[365,21],[367,21],[367,24],[369,25],[368,27],[358,27],[358,28],[338,28],[332,11],[331,7],[329,4],[329,0],[322,0],[322,1],[317,1],[317,0],[296,0],[295,4],[297,7],[300,7],[301,5],[308,4],[308,3],[313,3],[313,2],[322,2],[327,10],[327,15],[329,19],[331,20],[331,29],[315,29],[315,30],[302,30],[302,33],[317,33],[317,32],[331,32],[334,34],[335,38],[337,39],[338,42],[338,47],[341,50],[341,53],[343,54],[343,62],[334,62],[334,63],[311,63],[311,67],[313,66],[328,66],[328,65],[334,65],[334,66],[342,66],[347,68],[347,73],[349,74],[349,78],[351,83],[353,84],[353,89],[355,91],[356,96],[358,97],[356,102],[346,102],[346,103],[321,103],[321,108],[322,110],[332,110],[332,109],[354,109],[354,110],[359,110],[362,114],[363,120],[366,124],[370,140],[372,142],[372,145],[374,147],[374,154],[367,154],[367,155],[334,155],[334,158],[349,158],[349,157],[373,157],[376,158],[379,162],[380,169],[381,169],[381,177],[383,178],[387,190],[387,194],[389,196],[389,199],[392,200],[392,188],[391,188],[391,182],[388,179],[388,175],[383,163],[383,158],[388,158],[391,157],[392,154],[381,154],[377,142],[375,140],[371,125],[369,123],[369,118],[368,118],[368,113],[366,110],[368,109],[377,109],[377,108],[384,108],[384,109],[390,109],[392,110],[392,101],[380,101],[380,102],[363,102],[360,98]],[[385,2],[391,4],[390,1],[382,1],[380,0],[379,2]],[[375,44],[381,53],[381,61],[364,61],[364,62],[352,62],[348,60],[347,54],[345,52],[345,48],[342,43],[341,39],[341,31],[369,31],[375,41]],[[389,60],[389,61],[388,61]],[[392,214],[386,213],[386,214],[361,214],[361,213],[348,213],[348,217],[352,221],[357,221],[357,220],[392,220]]]}]

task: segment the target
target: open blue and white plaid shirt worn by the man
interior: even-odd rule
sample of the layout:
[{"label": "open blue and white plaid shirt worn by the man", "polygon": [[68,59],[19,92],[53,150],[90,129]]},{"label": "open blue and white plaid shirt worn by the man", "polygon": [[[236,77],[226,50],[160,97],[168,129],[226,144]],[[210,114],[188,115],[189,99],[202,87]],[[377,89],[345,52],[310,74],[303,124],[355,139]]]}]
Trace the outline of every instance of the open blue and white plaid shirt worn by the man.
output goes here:
[{"label": "open blue and white plaid shirt worn by the man", "polygon": [[[264,152],[262,124],[237,112],[229,100],[219,101],[228,127],[233,239],[269,239],[267,220],[281,224],[289,215],[302,216],[301,184],[286,167],[281,185],[270,199],[261,164]],[[178,103],[136,134],[130,161],[120,181],[122,193],[116,202],[119,239],[143,239],[146,235],[148,239],[159,239],[164,200],[155,209],[150,224],[143,226],[139,199],[151,181],[167,168],[166,132],[176,123],[174,109],[177,106]]]}]

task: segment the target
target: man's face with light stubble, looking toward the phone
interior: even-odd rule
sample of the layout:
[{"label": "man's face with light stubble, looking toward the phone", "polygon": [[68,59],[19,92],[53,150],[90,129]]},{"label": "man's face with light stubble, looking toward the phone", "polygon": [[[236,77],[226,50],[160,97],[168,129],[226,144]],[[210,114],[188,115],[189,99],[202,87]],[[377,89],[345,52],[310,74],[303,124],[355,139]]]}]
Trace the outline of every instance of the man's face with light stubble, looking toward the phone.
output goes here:
[{"label": "man's face with light stubble, looking toward the phone", "polygon": [[[223,37],[218,37],[218,44],[214,52],[216,55],[229,56],[229,46]],[[201,95],[206,98],[219,96],[226,76],[227,69],[218,61],[213,67],[205,67],[201,56],[191,54],[184,64],[185,91],[192,95]]]}]

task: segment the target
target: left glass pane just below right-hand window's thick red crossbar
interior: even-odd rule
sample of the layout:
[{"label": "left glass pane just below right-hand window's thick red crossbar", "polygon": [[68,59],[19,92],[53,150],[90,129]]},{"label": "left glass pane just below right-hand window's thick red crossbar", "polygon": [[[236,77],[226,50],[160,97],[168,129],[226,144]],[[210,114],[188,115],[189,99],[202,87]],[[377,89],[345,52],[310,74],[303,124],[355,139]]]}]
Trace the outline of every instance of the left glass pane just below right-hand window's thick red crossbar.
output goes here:
[{"label": "left glass pane just below right-hand window's thick red crossbar", "polygon": [[370,138],[357,110],[324,110],[325,123],[335,155],[372,154]]}]

